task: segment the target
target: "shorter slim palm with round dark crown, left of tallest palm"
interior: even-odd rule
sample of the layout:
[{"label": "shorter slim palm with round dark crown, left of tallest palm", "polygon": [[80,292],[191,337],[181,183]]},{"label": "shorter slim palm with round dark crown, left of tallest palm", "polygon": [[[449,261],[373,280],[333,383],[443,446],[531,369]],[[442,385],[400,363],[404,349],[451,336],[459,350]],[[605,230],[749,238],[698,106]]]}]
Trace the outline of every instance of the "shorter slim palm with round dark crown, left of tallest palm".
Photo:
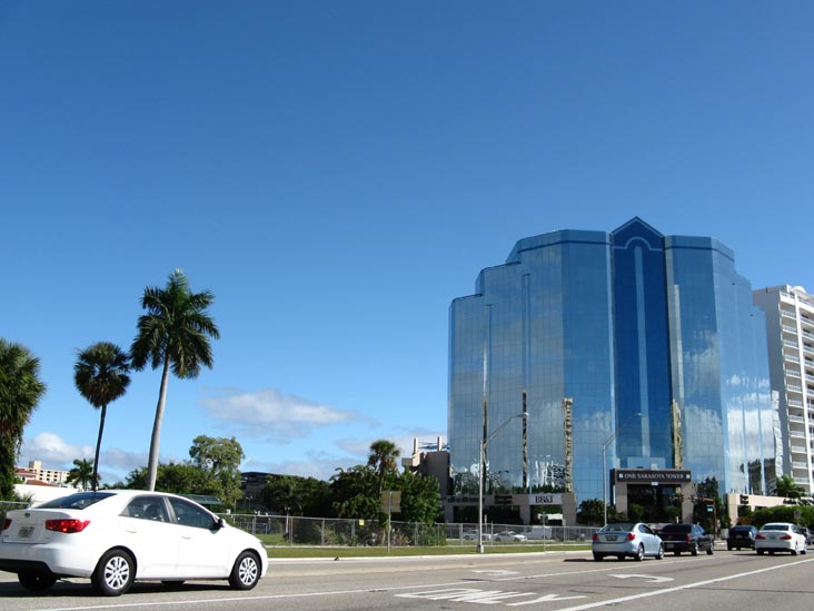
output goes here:
[{"label": "shorter slim palm with round dark crown, left of tallest palm", "polygon": [[99,482],[99,450],[108,404],[127,392],[127,387],[130,385],[129,372],[130,357],[110,342],[98,342],[85,348],[79,353],[77,363],[73,365],[73,381],[79,393],[93,407],[101,407],[99,436],[96,440],[96,454],[93,455],[93,479],[91,480],[93,492]]}]

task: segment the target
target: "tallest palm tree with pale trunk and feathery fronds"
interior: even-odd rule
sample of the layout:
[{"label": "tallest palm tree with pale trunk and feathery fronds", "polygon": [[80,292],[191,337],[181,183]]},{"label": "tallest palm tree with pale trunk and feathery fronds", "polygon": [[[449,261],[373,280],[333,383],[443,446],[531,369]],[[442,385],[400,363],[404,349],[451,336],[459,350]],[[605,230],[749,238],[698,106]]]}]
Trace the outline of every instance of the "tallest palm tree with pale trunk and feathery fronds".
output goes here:
[{"label": "tallest palm tree with pale trunk and feathery fronds", "polygon": [[130,358],[137,371],[143,369],[148,362],[153,369],[161,367],[161,386],[150,438],[148,490],[156,489],[161,420],[170,369],[176,377],[195,378],[201,365],[212,366],[209,338],[220,337],[218,327],[207,313],[214,300],[215,296],[209,290],[192,293],[180,269],[170,275],[165,288],[145,288],[141,307],[147,314],[139,317],[138,335],[130,347]]}]

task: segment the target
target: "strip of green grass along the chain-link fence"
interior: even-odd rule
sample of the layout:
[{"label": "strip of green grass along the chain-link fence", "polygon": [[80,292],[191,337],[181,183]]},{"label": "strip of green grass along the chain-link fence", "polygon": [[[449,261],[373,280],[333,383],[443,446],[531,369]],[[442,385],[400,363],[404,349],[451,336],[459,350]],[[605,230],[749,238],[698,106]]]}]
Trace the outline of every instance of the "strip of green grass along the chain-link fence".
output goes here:
[{"label": "strip of green grass along the chain-link fence", "polygon": [[[524,553],[524,552],[582,552],[590,549],[590,545],[574,544],[558,545],[546,544],[545,549],[542,544],[532,545],[486,545],[484,548],[487,554],[500,553]],[[270,558],[398,558],[410,555],[454,555],[454,554],[473,554],[476,555],[475,544],[471,545],[433,545],[433,546],[404,546],[391,548],[387,551],[386,546],[374,548],[305,548],[305,546],[271,546],[268,548]]]}]

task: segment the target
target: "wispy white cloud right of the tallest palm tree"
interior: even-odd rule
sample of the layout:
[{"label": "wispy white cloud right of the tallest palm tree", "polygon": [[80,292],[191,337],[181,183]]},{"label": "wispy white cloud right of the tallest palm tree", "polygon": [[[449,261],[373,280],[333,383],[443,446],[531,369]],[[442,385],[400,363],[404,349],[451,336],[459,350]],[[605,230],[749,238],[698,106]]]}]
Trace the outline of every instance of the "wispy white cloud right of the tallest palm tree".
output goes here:
[{"label": "wispy white cloud right of the tallest palm tree", "polygon": [[357,420],[355,412],[337,410],[275,388],[255,393],[221,391],[221,396],[201,398],[207,414],[240,435],[287,443],[306,437],[314,428]]}]

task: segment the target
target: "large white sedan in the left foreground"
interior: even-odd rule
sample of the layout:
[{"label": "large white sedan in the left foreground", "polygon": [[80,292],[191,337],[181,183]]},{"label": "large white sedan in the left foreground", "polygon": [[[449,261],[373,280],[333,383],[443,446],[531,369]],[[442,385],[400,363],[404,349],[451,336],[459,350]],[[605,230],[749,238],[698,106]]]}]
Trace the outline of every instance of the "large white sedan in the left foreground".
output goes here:
[{"label": "large white sedan in the left foreground", "polygon": [[0,570],[29,590],[60,578],[90,578],[105,595],[135,580],[229,580],[249,590],[268,570],[255,536],[173,494],[133,490],[79,492],[10,511],[0,536]]}]

